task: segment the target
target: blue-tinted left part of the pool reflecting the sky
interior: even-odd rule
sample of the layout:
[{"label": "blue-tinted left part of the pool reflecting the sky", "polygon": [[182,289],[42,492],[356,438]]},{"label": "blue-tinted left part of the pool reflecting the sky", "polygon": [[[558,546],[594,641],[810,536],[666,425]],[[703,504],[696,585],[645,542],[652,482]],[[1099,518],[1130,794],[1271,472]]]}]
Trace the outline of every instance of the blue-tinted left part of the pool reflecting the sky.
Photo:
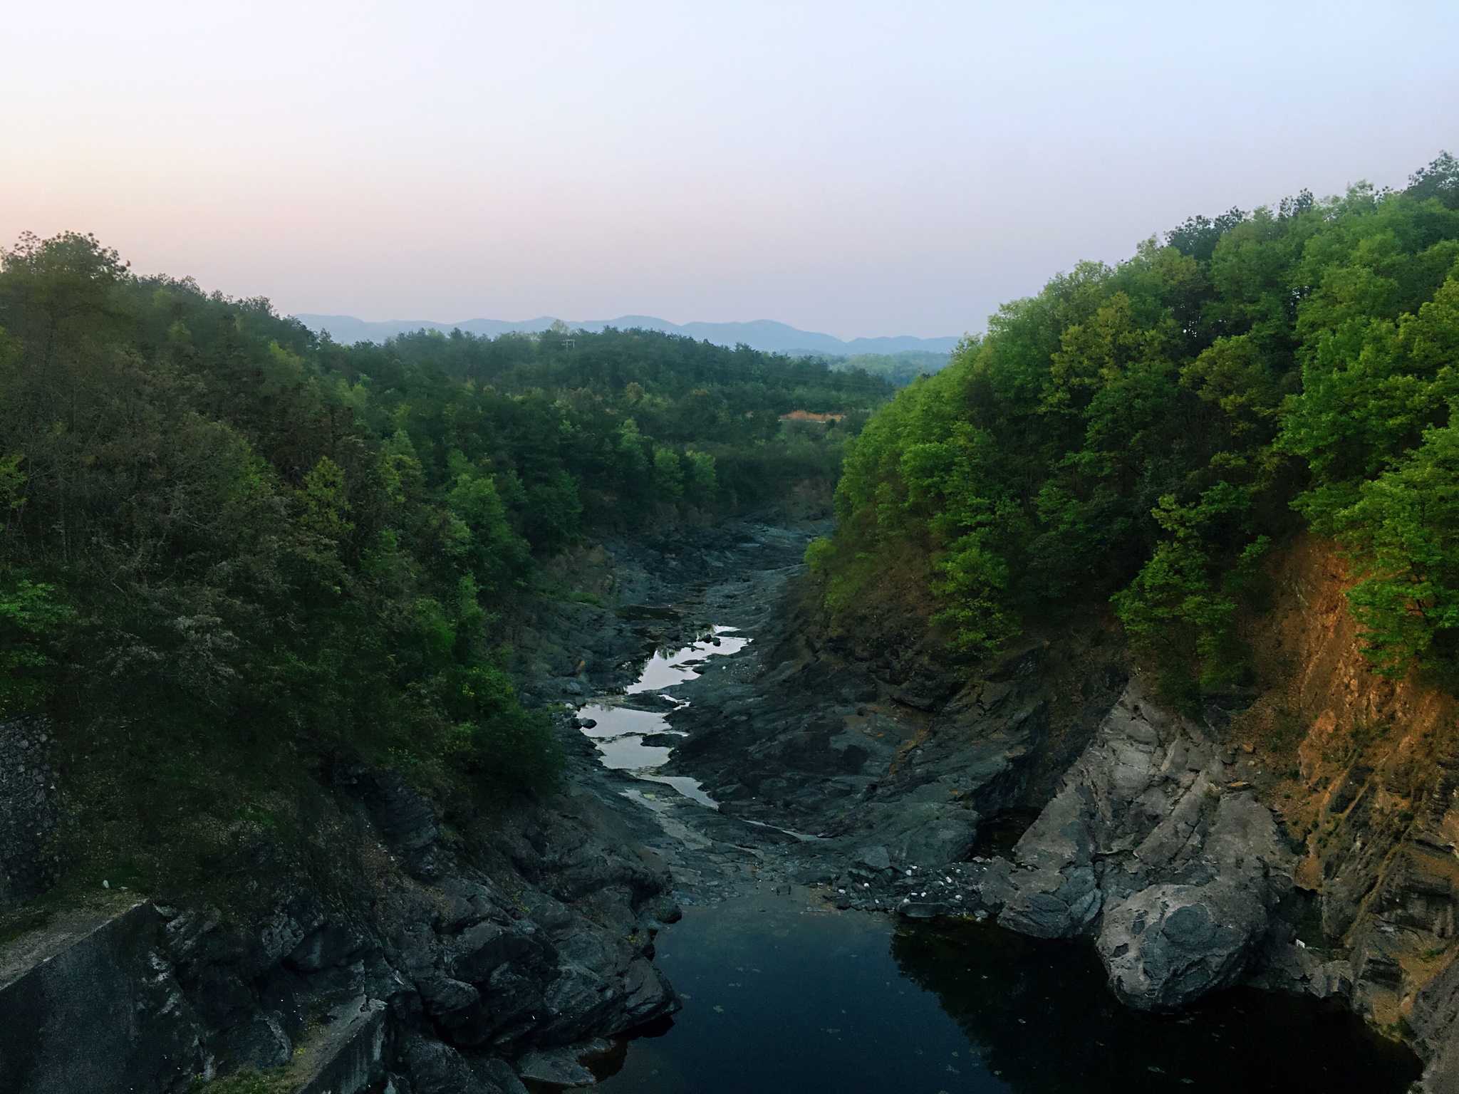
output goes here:
[{"label": "blue-tinted left part of the pool reflecting the sky", "polygon": [[686,907],[655,963],[684,999],[604,1094],[994,1094],[937,998],[897,973],[891,920],[791,897]]}]

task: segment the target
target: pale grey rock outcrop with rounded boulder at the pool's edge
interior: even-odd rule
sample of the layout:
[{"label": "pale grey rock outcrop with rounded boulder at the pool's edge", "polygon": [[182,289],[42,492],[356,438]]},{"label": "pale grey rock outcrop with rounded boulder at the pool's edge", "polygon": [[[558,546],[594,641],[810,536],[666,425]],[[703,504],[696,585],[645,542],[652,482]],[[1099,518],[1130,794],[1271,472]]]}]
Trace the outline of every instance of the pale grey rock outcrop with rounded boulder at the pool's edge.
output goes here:
[{"label": "pale grey rock outcrop with rounded boulder at the pool's edge", "polygon": [[1231,788],[1233,759],[1132,683],[1014,847],[999,923],[1093,934],[1132,1006],[1234,982],[1293,891],[1297,855],[1266,807]]}]

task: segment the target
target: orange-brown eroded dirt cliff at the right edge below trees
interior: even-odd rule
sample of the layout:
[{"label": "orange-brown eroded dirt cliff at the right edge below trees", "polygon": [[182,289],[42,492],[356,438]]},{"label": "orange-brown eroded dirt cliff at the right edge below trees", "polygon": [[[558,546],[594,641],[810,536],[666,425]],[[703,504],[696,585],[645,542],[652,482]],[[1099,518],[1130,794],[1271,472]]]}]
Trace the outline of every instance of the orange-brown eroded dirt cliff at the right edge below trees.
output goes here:
[{"label": "orange-brown eroded dirt cliff at the right edge below trees", "polygon": [[1274,607],[1246,624],[1261,688],[1231,737],[1303,849],[1296,881],[1312,904],[1299,941],[1347,961],[1354,1008],[1449,1069],[1455,1085],[1434,1090],[1459,1088],[1455,699],[1418,671],[1371,671],[1329,544],[1300,538],[1271,575]]}]

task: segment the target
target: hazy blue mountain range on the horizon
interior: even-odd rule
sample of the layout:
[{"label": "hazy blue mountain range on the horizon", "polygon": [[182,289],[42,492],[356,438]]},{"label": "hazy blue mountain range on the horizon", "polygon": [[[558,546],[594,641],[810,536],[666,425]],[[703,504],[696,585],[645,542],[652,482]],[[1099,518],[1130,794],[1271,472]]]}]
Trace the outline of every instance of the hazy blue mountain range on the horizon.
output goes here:
[{"label": "hazy blue mountain range on the horizon", "polygon": [[[463,330],[470,334],[506,334],[508,331],[544,331],[556,322],[550,315],[524,322],[503,322],[502,319],[465,319],[463,322],[435,322],[433,319],[388,319],[385,322],[366,322],[353,315],[295,315],[312,331],[328,331],[336,341],[385,341],[392,334],[419,331],[422,328],[433,331]],[[700,341],[712,341],[718,346],[735,346],[744,343],[750,349],[765,353],[826,353],[836,356],[851,356],[855,353],[906,353],[922,350],[928,353],[947,353],[959,338],[913,338],[903,334],[894,338],[852,338],[842,341],[830,334],[801,331],[773,319],[756,319],[754,322],[668,322],[655,319],[652,315],[620,315],[616,319],[587,319],[582,322],[565,321],[572,330],[601,331],[604,327],[642,327],[652,331],[668,331],[670,334],[687,334]]]}]

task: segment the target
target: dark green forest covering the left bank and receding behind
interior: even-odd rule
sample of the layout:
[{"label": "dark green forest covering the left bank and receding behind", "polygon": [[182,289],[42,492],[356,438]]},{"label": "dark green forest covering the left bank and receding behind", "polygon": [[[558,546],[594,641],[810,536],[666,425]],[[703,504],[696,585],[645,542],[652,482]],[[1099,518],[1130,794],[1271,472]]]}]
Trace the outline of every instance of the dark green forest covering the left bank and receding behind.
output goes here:
[{"label": "dark green forest covering the left bank and receding behind", "polygon": [[0,254],[0,718],[155,798],[279,747],[550,779],[502,646],[537,562],[829,494],[891,392],[638,330],[338,346],[80,235]]}]

